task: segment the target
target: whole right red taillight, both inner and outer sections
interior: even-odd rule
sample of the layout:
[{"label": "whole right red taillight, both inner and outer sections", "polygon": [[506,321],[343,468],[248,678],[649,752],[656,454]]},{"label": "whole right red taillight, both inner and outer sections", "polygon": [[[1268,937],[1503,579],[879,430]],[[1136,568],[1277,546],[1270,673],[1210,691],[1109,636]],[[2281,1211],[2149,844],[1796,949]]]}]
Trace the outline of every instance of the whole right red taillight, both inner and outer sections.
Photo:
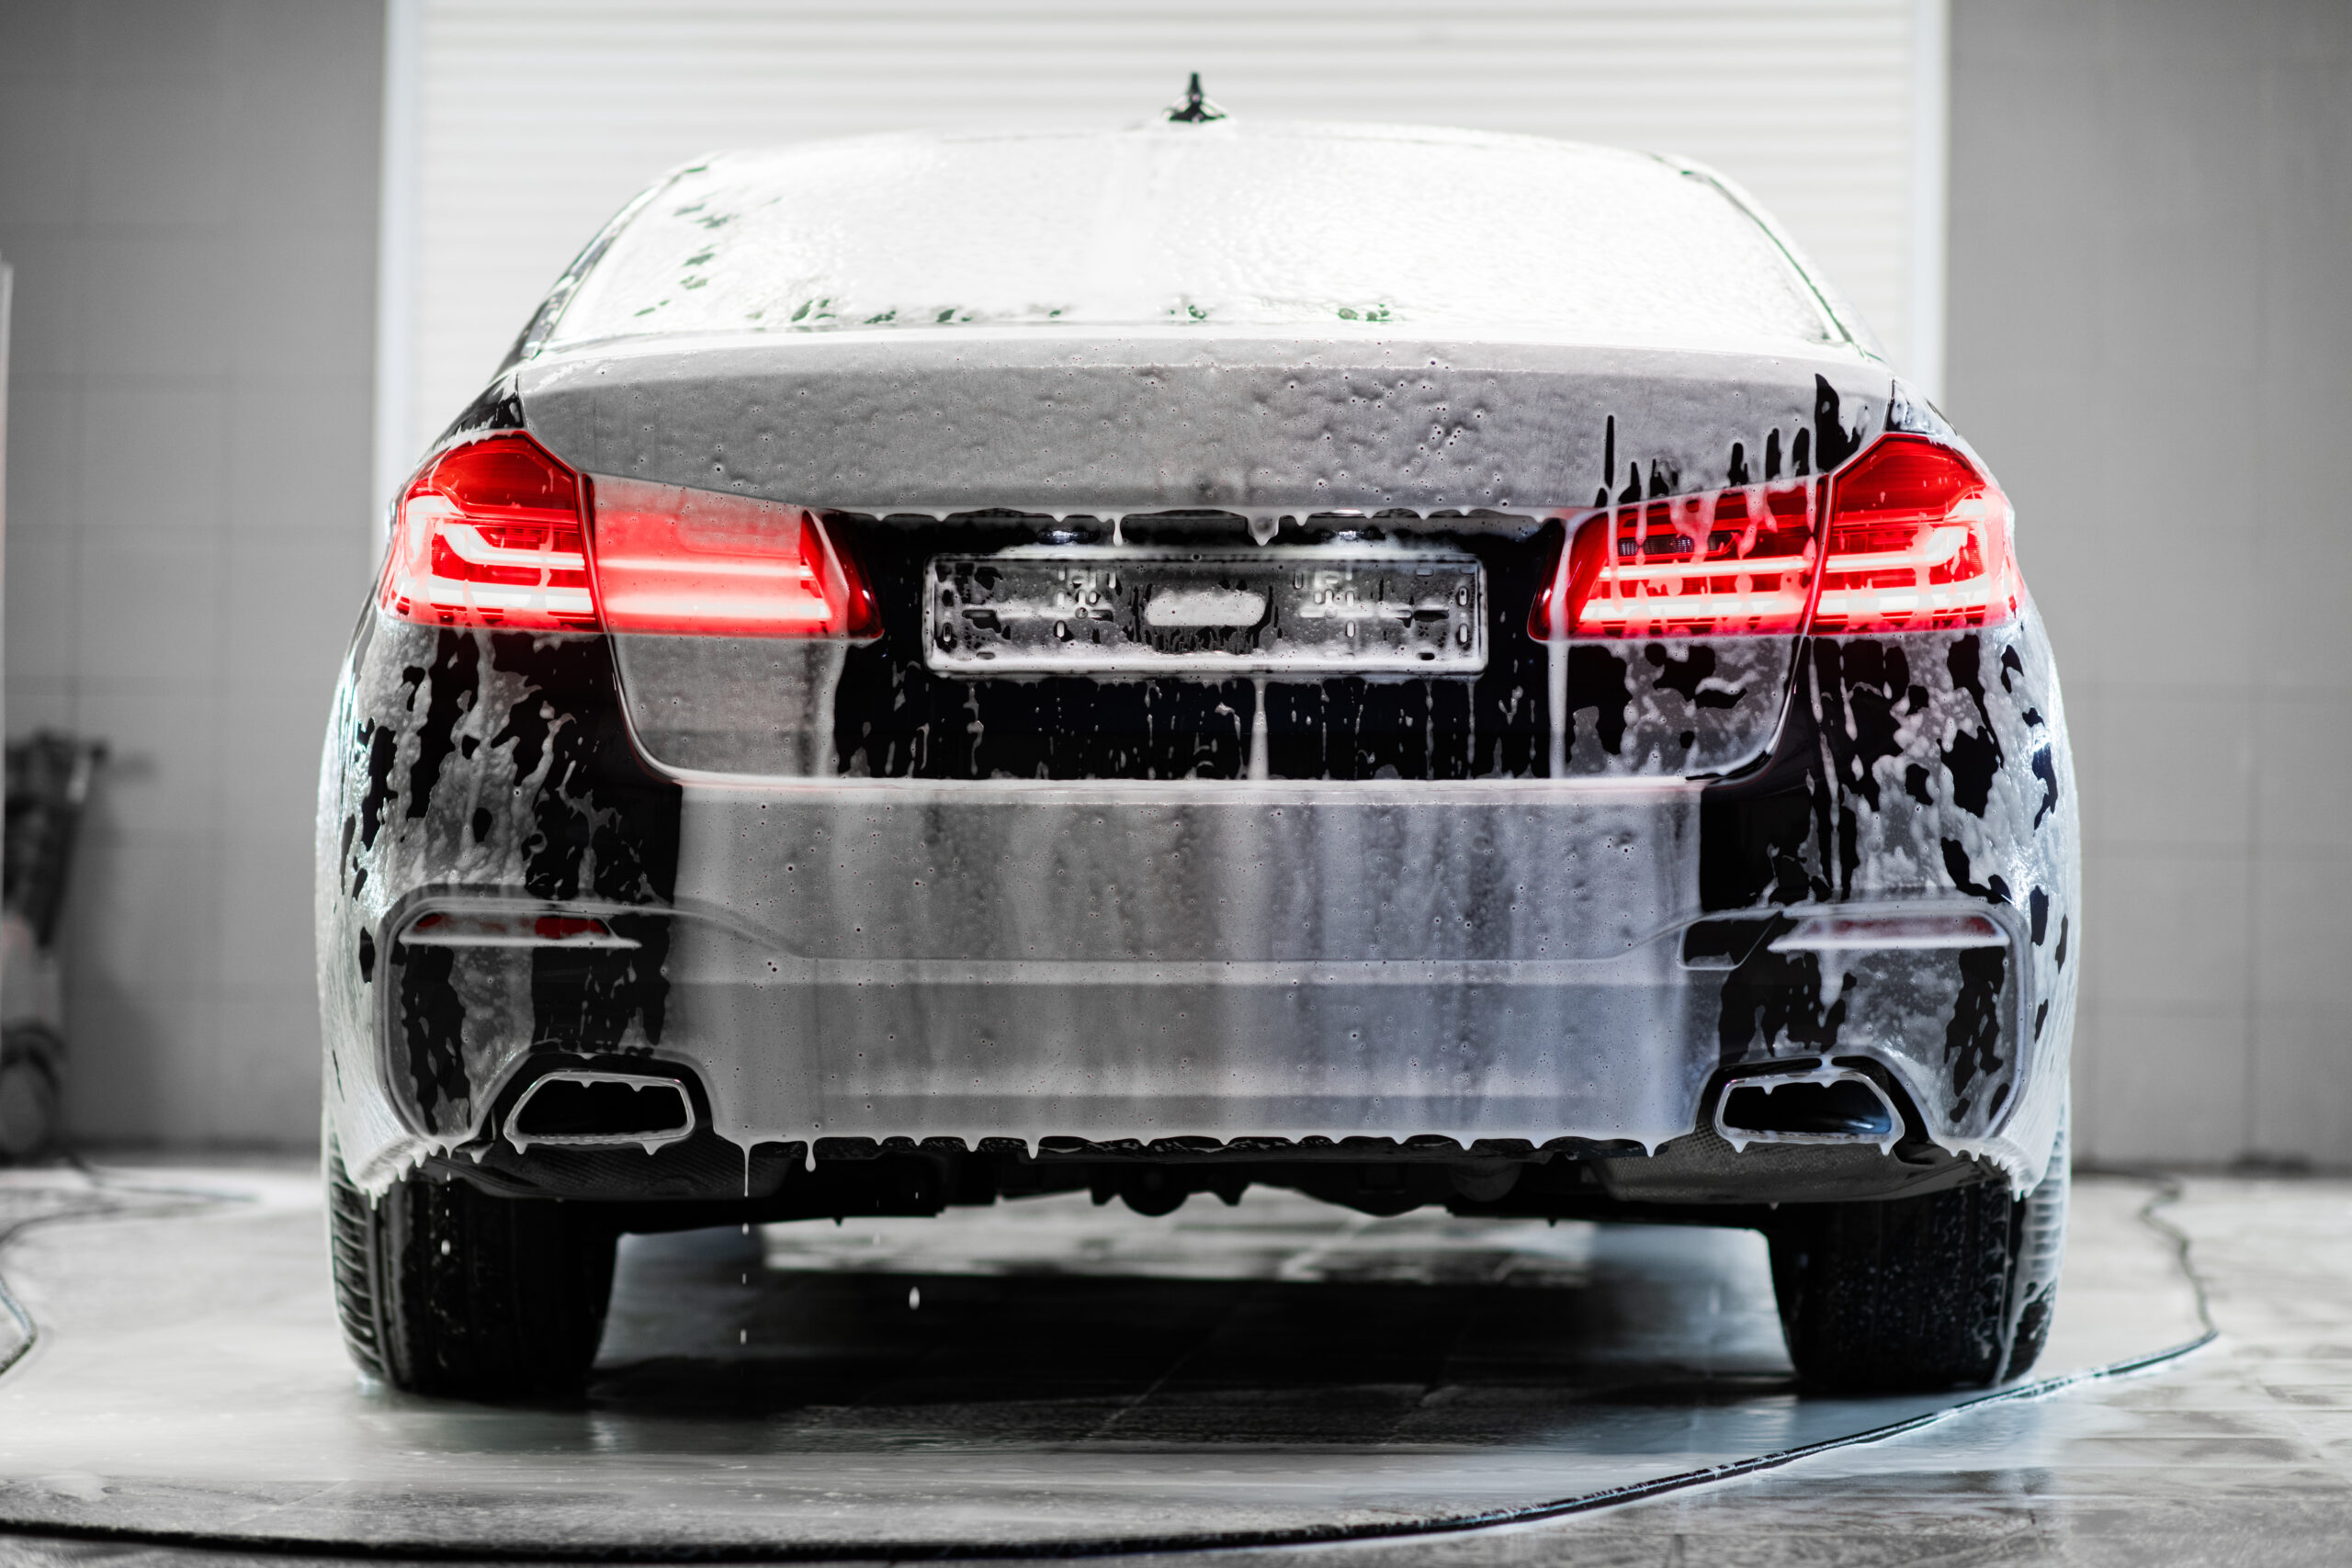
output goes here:
[{"label": "whole right red taillight, both inner and outer sections", "polygon": [[1947,630],[2006,621],[2023,597],[2009,501],[1924,435],[1879,437],[1828,482],[1628,501],[1571,529],[1531,637]]}]

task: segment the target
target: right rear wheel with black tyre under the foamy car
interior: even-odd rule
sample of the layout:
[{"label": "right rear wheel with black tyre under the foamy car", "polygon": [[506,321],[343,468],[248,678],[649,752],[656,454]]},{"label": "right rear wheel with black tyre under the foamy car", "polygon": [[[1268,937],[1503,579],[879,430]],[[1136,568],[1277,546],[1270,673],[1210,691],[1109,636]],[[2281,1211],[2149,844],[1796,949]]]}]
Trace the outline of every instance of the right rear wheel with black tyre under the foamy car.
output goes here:
[{"label": "right rear wheel with black tyre under the foamy car", "polygon": [[1797,1375],[1844,1394],[1983,1387],[2049,1340],[2065,1246],[2067,1133],[2023,1199],[1976,1182],[1917,1199],[1809,1204],[1771,1234]]}]

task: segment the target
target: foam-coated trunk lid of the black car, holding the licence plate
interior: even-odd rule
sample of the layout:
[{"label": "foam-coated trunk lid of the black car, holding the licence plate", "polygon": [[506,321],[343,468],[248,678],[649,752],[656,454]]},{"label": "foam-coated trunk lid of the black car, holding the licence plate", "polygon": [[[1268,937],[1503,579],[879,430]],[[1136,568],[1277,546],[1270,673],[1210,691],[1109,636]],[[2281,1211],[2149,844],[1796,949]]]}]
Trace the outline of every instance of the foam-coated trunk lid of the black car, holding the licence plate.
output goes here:
[{"label": "foam-coated trunk lid of the black car, holding the licence plate", "polygon": [[[1802,484],[1884,425],[1853,353],[840,334],[524,364],[630,482],[811,508],[880,635],[616,637],[677,771],[1562,778],[1762,755],[1776,637],[1548,642],[1583,512]],[[1244,614],[1247,611],[1247,614]]]}]

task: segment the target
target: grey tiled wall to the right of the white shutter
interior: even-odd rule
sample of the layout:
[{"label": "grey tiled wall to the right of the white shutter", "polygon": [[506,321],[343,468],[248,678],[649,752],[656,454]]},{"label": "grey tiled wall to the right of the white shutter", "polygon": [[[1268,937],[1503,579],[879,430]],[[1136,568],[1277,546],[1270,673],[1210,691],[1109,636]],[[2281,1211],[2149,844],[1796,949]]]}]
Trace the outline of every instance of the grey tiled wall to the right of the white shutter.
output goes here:
[{"label": "grey tiled wall to the right of the white shutter", "polygon": [[2352,7],[1955,0],[1950,411],[2082,764],[2082,1150],[2352,1164]]}]

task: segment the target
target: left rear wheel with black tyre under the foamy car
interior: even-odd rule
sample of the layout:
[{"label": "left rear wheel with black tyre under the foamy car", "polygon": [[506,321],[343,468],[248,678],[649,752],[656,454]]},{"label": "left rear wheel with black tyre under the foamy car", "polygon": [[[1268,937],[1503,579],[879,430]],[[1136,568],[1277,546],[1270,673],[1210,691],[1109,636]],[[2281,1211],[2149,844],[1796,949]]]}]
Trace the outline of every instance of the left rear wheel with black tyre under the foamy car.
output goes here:
[{"label": "left rear wheel with black tyre under the foamy car", "polygon": [[588,1378],[619,1244],[593,1211],[421,1175],[369,1199],[329,1150],[327,1225],[360,1371],[487,1401],[564,1396]]}]

